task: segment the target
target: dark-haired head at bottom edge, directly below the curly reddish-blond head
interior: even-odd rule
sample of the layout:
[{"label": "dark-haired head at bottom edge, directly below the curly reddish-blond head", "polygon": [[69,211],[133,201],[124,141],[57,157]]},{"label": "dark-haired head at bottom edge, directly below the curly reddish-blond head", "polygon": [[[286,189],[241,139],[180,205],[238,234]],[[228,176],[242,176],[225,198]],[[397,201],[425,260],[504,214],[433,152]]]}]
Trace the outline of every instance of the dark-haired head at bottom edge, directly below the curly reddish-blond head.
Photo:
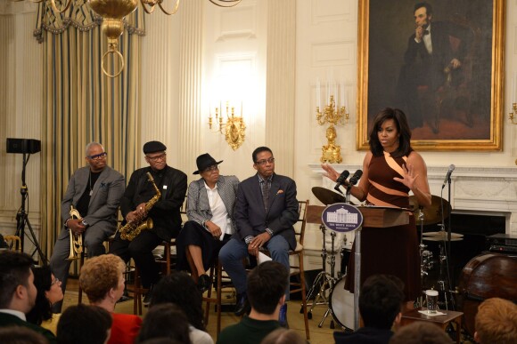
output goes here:
[{"label": "dark-haired head at bottom edge, directly below the curly reddish-blond head", "polygon": [[111,315],[97,306],[70,306],[57,324],[58,344],[104,344],[111,333]]}]

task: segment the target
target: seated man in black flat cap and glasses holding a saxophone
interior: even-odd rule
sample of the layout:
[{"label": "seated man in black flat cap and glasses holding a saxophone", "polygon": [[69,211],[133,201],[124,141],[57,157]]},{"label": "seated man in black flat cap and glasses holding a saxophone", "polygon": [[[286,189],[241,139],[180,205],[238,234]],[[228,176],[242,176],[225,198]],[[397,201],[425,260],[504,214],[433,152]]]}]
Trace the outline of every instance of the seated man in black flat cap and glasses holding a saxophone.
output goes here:
[{"label": "seated man in black flat cap and glasses holding a saxophone", "polygon": [[[132,241],[123,240],[118,232],[111,244],[110,253],[123,260],[133,258],[140,269],[142,286],[148,288],[144,304],[152,298],[152,286],[158,282],[159,267],[152,250],[163,241],[176,237],[181,229],[180,209],[185,200],[186,174],[167,165],[165,145],[159,141],[144,144],[145,161],[149,167],[136,170],[131,174],[126,192],[120,201],[120,211],[124,224],[139,219],[152,219],[152,228],[144,229]],[[150,172],[156,187],[160,190],[160,200],[149,212],[145,204],[155,196],[156,190],[147,176]]]}]

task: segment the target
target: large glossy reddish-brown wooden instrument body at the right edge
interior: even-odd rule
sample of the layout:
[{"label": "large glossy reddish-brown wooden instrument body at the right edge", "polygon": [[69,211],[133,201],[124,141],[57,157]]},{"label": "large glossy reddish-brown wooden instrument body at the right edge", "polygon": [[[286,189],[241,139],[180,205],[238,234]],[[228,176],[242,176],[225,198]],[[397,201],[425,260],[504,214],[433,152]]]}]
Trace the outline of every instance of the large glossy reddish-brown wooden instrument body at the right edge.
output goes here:
[{"label": "large glossy reddish-brown wooden instrument body at the right edge", "polygon": [[475,317],[483,300],[517,300],[517,257],[483,253],[465,265],[458,282],[458,308],[464,312],[464,327],[474,335]]}]

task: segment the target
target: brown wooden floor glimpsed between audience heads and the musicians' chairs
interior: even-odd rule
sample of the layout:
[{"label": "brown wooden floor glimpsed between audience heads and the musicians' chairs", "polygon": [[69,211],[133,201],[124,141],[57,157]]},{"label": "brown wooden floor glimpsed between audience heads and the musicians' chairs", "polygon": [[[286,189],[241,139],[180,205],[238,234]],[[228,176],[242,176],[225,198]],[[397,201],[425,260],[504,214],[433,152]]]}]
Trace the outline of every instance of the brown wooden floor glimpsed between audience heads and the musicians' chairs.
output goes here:
[{"label": "brown wooden floor glimpsed between audience heads and the musicians' chairs", "polygon": [[[83,294],[83,302],[87,302],[86,295]],[[78,303],[78,282],[75,279],[69,279],[67,285],[67,292],[65,294],[65,299],[63,303],[63,310],[71,305],[76,305]],[[203,304],[203,307],[205,305]],[[303,314],[300,314],[300,301],[292,300],[288,302],[288,316],[287,319],[289,321],[289,326],[292,330],[296,330],[300,333],[300,335],[305,338],[305,326],[303,322]],[[147,308],[144,308],[144,315]],[[321,328],[318,327],[318,323],[321,321],[324,312],[326,310],[326,306],[317,306],[313,311],[313,318],[308,321],[310,328],[310,343],[312,344],[329,344],[333,343],[332,330],[330,328],[331,324],[331,316],[328,316],[324,321],[324,324]],[[126,313],[133,314],[133,300],[127,300],[125,302],[120,302],[117,304],[115,308],[115,312],[117,313]],[[223,312],[221,316],[221,328],[225,328],[227,325],[235,324],[240,321],[239,316],[234,316],[232,312]],[[337,326],[337,324],[336,324]],[[213,311],[210,312],[209,316],[209,324],[207,325],[207,330],[209,334],[212,336],[214,342],[217,340],[216,332],[217,332],[217,317],[216,313]]]}]

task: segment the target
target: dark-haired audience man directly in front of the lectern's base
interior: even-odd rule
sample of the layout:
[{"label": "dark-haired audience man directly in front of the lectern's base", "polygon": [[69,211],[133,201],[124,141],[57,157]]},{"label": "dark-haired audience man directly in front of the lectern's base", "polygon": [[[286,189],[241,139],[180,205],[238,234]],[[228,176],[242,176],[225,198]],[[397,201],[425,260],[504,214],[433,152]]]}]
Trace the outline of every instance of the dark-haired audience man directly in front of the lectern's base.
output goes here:
[{"label": "dark-haired audience man directly in front of the lectern's base", "polygon": [[396,276],[373,275],[365,280],[359,294],[359,313],[365,327],[355,332],[334,332],[336,343],[388,344],[391,327],[402,318],[404,284]]}]

